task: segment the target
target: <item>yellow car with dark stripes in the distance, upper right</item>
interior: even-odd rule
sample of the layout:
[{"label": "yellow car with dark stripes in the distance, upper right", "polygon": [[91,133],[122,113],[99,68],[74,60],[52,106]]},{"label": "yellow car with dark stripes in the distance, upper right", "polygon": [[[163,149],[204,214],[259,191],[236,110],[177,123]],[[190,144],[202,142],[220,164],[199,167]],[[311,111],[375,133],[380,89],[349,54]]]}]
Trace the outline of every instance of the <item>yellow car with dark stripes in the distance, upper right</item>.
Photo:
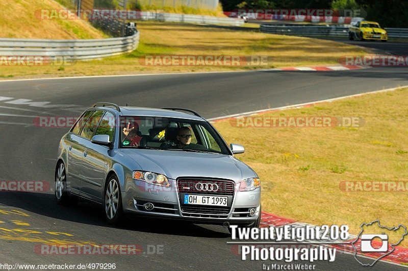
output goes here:
[{"label": "yellow car with dark stripes in the distance, upper right", "polygon": [[382,29],[378,22],[360,21],[348,29],[349,40],[388,40],[387,31]]}]

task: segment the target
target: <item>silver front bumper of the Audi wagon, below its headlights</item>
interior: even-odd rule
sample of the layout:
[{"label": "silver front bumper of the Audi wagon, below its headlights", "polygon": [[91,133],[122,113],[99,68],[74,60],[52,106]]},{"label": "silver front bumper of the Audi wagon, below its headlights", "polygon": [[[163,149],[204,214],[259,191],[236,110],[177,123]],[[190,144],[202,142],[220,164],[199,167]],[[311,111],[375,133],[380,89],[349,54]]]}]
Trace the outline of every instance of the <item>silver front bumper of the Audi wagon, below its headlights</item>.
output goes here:
[{"label": "silver front bumper of the Audi wagon, below its headlights", "polygon": [[[239,191],[240,184],[234,183],[235,191],[234,195],[228,198],[228,210],[224,208],[225,211],[212,212],[210,210],[212,208],[203,208],[208,210],[192,211],[189,209],[189,211],[186,211],[186,208],[181,207],[180,193],[176,180],[169,179],[169,183],[170,187],[161,187],[133,180],[132,187],[130,187],[128,182],[126,192],[121,194],[123,210],[126,215],[161,217],[197,224],[220,225],[225,222],[251,224],[261,215],[261,188],[252,191]],[[147,203],[153,204],[154,208],[147,210],[145,208]],[[255,210],[255,213],[250,215],[249,210],[252,208]]]}]

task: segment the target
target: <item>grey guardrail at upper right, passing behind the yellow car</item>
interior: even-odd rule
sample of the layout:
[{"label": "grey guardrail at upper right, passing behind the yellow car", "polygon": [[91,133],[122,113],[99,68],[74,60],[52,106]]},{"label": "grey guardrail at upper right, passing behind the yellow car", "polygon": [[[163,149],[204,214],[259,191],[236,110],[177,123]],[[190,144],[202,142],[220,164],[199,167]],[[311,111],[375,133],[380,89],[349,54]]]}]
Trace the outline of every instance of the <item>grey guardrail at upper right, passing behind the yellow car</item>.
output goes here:
[{"label": "grey guardrail at upper right, passing behind the yellow car", "polygon": [[[348,27],[344,26],[272,26],[262,24],[261,32],[294,35],[294,36],[326,36],[326,37],[348,37]],[[385,28],[390,38],[408,38],[406,28]]]}]

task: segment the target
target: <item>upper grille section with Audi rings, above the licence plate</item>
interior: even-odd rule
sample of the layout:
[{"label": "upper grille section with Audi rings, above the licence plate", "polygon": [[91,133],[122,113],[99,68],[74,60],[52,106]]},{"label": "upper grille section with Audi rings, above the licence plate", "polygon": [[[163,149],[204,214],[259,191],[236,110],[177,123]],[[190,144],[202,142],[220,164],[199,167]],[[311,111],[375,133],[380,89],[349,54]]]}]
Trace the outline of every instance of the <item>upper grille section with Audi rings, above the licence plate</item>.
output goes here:
[{"label": "upper grille section with Audi rings, above the licence plate", "polygon": [[[197,183],[209,183],[217,184],[217,191],[199,191],[196,189]],[[206,195],[234,195],[235,183],[233,181],[222,181],[222,180],[178,180],[177,186],[180,193],[195,193],[195,194],[206,194]]]}]

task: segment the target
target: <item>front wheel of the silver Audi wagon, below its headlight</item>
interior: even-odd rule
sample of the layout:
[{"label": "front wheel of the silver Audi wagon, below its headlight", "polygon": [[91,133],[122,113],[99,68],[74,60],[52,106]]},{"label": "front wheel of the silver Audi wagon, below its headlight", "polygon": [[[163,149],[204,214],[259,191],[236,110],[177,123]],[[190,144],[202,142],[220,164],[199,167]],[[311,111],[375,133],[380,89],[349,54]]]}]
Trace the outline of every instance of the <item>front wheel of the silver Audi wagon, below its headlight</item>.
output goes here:
[{"label": "front wheel of the silver Audi wagon, below its headlight", "polygon": [[120,185],[115,175],[109,176],[104,190],[105,218],[111,225],[120,225],[124,220]]}]

